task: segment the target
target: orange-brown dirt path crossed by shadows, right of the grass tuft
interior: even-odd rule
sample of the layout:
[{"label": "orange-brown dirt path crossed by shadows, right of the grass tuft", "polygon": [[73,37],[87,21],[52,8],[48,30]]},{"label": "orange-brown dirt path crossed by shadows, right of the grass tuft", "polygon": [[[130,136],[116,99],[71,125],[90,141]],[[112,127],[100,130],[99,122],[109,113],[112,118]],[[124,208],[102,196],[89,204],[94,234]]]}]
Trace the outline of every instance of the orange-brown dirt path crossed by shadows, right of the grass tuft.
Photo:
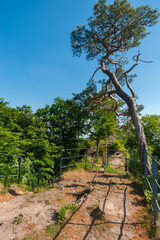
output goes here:
[{"label": "orange-brown dirt path crossed by shadows, right of the grass tuft", "polygon": [[90,175],[94,178],[91,193],[54,239],[149,239],[138,218],[143,196],[132,182],[124,175]]}]

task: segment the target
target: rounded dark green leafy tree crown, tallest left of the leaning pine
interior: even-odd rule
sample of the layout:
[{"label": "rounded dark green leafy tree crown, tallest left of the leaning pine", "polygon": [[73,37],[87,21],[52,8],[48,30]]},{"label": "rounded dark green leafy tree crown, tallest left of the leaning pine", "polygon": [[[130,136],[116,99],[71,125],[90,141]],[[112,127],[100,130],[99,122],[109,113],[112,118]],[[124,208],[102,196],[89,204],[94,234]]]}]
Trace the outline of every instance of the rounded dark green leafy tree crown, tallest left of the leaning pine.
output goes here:
[{"label": "rounded dark green leafy tree crown, tallest left of the leaning pine", "polygon": [[73,99],[54,99],[51,106],[38,109],[36,118],[46,124],[50,141],[64,149],[76,146],[76,138],[81,136],[85,128],[83,110]]}]

